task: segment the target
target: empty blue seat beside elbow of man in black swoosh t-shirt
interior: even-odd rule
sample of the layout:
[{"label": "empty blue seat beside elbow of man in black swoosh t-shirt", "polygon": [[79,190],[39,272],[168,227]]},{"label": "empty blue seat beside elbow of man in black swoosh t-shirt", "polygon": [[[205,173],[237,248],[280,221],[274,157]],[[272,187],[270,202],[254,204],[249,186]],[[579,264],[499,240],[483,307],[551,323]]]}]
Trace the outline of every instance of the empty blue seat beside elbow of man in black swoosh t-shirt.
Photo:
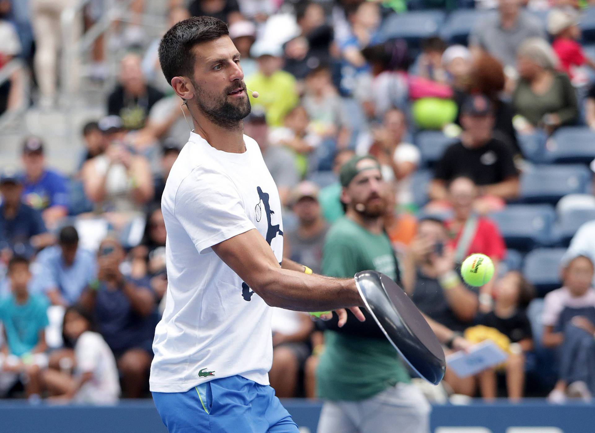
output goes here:
[{"label": "empty blue seat beside elbow of man in black swoosh t-shirt", "polygon": [[584,165],[533,165],[521,175],[521,201],[555,204],[566,194],[587,192],[590,183]]}]

